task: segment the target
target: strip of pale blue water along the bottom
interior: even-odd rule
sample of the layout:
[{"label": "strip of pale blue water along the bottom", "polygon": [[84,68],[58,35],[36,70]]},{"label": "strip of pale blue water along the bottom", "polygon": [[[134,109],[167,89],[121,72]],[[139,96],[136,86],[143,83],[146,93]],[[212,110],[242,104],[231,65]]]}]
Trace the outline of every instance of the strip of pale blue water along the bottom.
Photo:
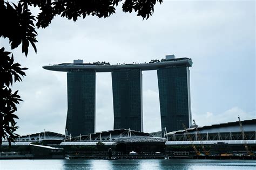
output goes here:
[{"label": "strip of pale blue water along the bottom", "polygon": [[255,160],[0,160],[0,169],[256,169]]}]

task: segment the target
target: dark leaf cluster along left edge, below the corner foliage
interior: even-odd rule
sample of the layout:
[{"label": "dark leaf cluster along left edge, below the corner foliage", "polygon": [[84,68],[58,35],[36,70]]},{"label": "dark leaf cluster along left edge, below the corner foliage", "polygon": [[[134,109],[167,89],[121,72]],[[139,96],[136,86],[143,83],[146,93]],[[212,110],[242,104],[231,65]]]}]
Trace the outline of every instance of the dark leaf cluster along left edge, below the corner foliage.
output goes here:
[{"label": "dark leaf cluster along left edge, below the corner foliage", "polygon": [[14,132],[18,128],[15,119],[18,116],[14,114],[17,111],[16,104],[19,104],[21,96],[15,91],[12,93],[10,86],[13,82],[22,81],[21,76],[25,76],[28,68],[21,68],[19,63],[14,63],[14,56],[10,52],[0,49],[0,145],[2,138],[8,139],[9,144],[17,136]]}]

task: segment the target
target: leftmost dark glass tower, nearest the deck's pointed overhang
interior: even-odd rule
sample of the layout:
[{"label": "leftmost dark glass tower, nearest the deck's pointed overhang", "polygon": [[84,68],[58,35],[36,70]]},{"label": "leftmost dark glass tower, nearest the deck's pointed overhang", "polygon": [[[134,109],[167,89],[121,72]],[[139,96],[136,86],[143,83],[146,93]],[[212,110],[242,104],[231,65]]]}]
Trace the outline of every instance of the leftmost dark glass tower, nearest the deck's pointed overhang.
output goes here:
[{"label": "leftmost dark glass tower, nearest the deck's pointed overhang", "polygon": [[96,72],[67,73],[68,115],[66,130],[71,136],[95,133]]}]

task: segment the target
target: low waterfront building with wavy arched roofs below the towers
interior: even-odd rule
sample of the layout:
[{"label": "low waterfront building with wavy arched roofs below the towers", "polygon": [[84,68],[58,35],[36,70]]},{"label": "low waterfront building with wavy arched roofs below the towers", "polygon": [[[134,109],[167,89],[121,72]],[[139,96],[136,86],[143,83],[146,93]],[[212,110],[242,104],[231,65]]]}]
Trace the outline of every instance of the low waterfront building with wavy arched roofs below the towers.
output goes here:
[{"label": "low waterfront building with wavy arched roofs below the towers", "polygon": [[[58,143],[56,143],[56,141],[58,141]],[[51,158],[51,155],[55,155],[53,157],[57,159],[59,155],[63,155],[63,148],[65,152],[79,153],[82,157],[89,155],[90,158],[99,158],[105,157],[104,153],[106,153],[105,151],[110,147],[116,152],[116,155],[120,154],[118,152],[129,153],[135,151],[137,153],[147,152],[153,154],[153,157],[156,158],[154,153],[163,153],[166,141],[166,138],[154,137],[150,133],[130,129],[116,129],[93,134],[90,133],[78,137],[70,137],[48,131],[16,138],[15,143],[11,143],[11,149],[16,152],[21,152],[21,150],[25,151],[26,154],[32,152],[33,155],[31,155],[30,159],[46,159]],[[35,143],[37,143],[37,145],[35,145]],[[104,144],[102,145],[103,150],[100,155],[98,154],[100,151],[97,148],[99,143]],[[3,141],[0,146],[0,153],[6,151],[9,151],[9,143],[8,141]],[[83,151],[83,153],[80,151]],[[84,151],[89,152],[86,153]],[[93,153],[92,151],[96,152]],[[148,155],[145,156],[149,157]]]}]

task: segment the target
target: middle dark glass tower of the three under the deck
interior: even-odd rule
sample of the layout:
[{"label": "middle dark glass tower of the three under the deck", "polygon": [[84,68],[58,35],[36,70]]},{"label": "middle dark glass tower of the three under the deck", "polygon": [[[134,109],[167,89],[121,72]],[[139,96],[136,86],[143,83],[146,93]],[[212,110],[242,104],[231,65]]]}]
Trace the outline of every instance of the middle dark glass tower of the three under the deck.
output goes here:
[{"label": "middle dark glass tower of the three under the deck", "polygon": [[142,71],[112,72],[114,129],[143,131]]}]

